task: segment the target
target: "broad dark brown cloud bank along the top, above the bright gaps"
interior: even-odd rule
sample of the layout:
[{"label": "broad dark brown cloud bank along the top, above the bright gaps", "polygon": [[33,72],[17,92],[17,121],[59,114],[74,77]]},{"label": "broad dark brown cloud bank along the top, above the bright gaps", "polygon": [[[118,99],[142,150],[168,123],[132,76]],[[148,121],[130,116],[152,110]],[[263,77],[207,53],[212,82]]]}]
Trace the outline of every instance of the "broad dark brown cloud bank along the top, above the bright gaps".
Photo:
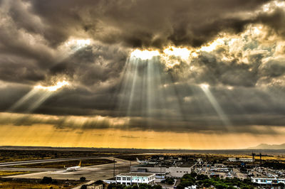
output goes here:
[{"label": "broad dark brown cloud bank along the top, above the bright gaps", "polygon": [[268,1],[29,2],[28,11],[38,16],[44,30],[31,26],[30,21],[22,21],[25,12],[16,5],[12,6],[11,15],[21,27],[40,33],[51,45],[63,43],[71,35],[86,33],[105,43],[161,47],[168,43],[199,46],[220,31],[238,33],[253,18],[237,15],[254,11]]}]

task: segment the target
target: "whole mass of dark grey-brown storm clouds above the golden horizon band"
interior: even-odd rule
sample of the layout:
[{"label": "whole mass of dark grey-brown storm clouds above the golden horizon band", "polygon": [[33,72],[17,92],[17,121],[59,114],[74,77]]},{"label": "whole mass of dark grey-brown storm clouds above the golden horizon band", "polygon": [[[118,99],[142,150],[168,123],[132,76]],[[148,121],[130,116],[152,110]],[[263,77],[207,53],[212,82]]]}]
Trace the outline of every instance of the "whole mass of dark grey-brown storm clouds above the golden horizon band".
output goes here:
[{"label": "whole mass of dark grey-brown storm clouds above the golden horizon band", "polygon": [[[250,41],[249,36],[244,37],[246,43],[236,54],[222,47],[200,52],[190,63],[177,60],[179,64],[172,68],[162,60],[153,63],[150,75],[151,63],[143,61],[137,68],[133,65],[130,77],[124,72],[133,47],[199,47],[220,33],[241,33],[250,23],[269,26],[267,35],[284,37],[284,10],[259,13],[266,2],[0,1],[4,7],[0,9],[0,80],[5,84],[0,86],[1,112],[38,83],[51,85],[53,78],[65,77],[73,84],[33,112],[47,114],[46,119],[28,114],[14,119],[1,117],[1,124],[106,129],[113,128],[110,120],[127,117],[130,120],[120,124],[120,129],[227,131],[217,108],[199,87],[207,83],[234,127],[232,132],[255,134],[254,126],[284,126],[284,58],[270,58],[274,45],[260,50],[259,43]],[[62,50],[72,38],[89,38],[94,43]],[[244,57],[248,63],[243,62]],[[268,87],[275,80],[281,85]],[[48,118],[48,114],[62,117]],[[67,121],[72,115],[90,120],[84,124]],[[93,119],[98,115],[105,119]],[[260,132],[274,134],[269,130]]]}]

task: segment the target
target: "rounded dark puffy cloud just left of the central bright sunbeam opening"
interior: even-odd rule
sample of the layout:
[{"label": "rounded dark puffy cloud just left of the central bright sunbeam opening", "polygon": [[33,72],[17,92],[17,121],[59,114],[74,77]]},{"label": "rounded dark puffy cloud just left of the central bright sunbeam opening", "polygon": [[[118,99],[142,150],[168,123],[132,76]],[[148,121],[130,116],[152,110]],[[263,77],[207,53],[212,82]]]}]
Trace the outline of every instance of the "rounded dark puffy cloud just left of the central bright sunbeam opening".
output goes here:
[{"label": "rounded dark puffy cloud just left of the central bright sunbeam opening", "polygon": [[51,75],[66,74],[84,85],[120,76],[126,60],[126,51],[103,45],[93,45],[77,50],[63,62],[50,68]]}]

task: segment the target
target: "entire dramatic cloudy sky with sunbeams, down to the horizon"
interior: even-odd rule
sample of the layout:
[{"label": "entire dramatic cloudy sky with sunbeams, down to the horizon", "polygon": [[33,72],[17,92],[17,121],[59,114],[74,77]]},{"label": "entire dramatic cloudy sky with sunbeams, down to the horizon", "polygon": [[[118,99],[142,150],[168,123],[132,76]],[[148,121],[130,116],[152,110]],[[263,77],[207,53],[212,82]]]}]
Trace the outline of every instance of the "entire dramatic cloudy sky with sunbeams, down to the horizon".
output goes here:
[{"label": "entire dramatic cloudy sky with sunbeams, down to the horizon", "polygon": [[0,145],[284,136],[284,1],[0,0]]}]

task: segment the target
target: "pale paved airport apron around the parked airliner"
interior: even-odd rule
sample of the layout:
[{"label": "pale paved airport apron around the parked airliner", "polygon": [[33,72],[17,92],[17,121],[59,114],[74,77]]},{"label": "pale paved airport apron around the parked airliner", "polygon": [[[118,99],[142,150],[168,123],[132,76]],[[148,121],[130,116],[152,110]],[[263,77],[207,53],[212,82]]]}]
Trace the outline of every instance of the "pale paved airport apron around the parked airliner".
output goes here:
[{"label": "pale paved airport apron around the parked airliner", "polygon": [[[130,161],[125,161],[123,159],[113,157],[107,157],[107,159],[115,159],[115,175],[118,173],[128,173],[130,171]],[[132,166],[135,164],[138,163],[136,161],[132,161]],[[53,179],[79,180],[81,177],[85,177],[86,180],[103,180],[113,177],[113,166],[114,163],[108,163],[98,166],[82,167],[79,171],[45,171],[25,175],[12,175],[7,176],[6,178],[43,178],[44,176],[48,176]],[[26,168],[25,170],[30,171],[30,168]]]}]

